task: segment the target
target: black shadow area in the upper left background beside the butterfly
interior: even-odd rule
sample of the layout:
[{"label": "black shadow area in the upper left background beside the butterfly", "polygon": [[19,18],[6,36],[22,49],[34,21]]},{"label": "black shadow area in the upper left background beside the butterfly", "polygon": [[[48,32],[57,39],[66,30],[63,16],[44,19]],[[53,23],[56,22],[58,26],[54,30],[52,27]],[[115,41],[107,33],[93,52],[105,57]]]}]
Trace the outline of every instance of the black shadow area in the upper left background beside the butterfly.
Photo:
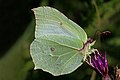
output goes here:
[{"label": "black shadow area in the upper left background beside the butterfly", "polygon": [[32,20],[40,0],[0,0],[0,57],[10,49]]}]

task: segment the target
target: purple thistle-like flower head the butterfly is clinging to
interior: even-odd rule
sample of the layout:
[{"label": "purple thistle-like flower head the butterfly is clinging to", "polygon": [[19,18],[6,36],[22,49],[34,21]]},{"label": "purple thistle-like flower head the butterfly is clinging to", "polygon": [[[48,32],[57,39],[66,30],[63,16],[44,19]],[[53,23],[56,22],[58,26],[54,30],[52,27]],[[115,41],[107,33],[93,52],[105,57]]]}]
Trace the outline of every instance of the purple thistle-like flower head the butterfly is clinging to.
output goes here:
[{"label": "purple thistle-like flower head the butterfly is clinging to", "polygon": [[108,61],[106,59],[106,53],[101,53],[99,51],[95,51],[94,53],[88,56],[86,62],[101,76],[104,80],[109,80],[108,75]]}]

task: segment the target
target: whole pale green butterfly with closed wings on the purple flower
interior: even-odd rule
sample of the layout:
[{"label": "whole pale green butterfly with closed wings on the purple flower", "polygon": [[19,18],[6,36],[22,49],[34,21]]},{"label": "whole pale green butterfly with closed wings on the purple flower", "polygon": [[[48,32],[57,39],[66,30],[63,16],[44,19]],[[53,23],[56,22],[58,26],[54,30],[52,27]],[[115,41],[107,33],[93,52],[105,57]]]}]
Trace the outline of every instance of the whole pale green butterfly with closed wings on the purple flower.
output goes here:
[{"label": "whole pale green butterfly with closed wings on the purple flower", "polygon": [[30,54],[35,69],[54,76],[76,70],[92,50],[86,32],[54,8],[38,7],[33,11],[36,27]]}]

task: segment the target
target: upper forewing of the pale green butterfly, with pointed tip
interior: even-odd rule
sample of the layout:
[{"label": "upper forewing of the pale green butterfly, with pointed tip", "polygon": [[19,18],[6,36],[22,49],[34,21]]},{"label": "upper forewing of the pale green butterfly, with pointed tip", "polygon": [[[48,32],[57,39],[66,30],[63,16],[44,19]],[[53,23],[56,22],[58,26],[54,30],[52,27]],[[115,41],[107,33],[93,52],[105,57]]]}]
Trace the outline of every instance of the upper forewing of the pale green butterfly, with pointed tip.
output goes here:
[{"label": "upper forewing of the pale green butterfly, with pointed tip", "polygon": [[33,11],[36,18],[36,38],[44,35],[66,35],[79,38],[83,42],[87,40],[85,31],[58,10],[51,7],[39,7]]}]

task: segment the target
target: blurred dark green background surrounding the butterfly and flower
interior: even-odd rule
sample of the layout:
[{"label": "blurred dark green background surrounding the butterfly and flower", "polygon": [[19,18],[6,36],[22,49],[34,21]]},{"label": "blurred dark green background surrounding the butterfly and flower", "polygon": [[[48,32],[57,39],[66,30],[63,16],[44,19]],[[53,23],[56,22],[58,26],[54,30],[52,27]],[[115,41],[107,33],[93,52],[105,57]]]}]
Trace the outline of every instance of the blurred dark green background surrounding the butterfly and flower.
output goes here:
[{"label": "blurred dark green background surrounding the butterfly and flower", "polygon": [[[109,72],[120,65],[120,0],[96,0],[101,16],[101,50],[107,52]],[[92,69],[84,63],[71,74],[54,77],[34,70],[29,47],[34,39],[35,19],[32,8],[51,6],[94,36],[98,19],[92,0],[0,0],[0,80],[90,80]],[[97,37],[96,37],[97,40]],[[97,46],[97,41],[94,47]],[[95,80],[100,80],[99,75]]]}]

